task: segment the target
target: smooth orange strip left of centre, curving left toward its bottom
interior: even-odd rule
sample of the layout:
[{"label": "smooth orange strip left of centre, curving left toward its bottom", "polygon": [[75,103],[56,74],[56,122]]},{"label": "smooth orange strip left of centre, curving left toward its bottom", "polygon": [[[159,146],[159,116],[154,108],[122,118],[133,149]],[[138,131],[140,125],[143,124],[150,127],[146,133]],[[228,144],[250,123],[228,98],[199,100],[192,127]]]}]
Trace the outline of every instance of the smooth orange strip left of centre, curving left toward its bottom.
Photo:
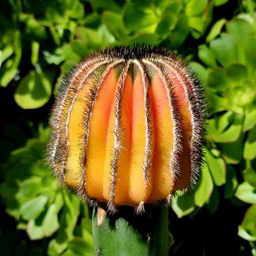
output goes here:
[{"label": "smooth orange strip left of centre, curving left toward its bottom", "polygon": [[[118,63],[114,63],[117,65]],[[94,100],[92,100],[92,113],[89,122],[89,136],[87,145],[86,166],[86,191],[91,198],[103,199],[103,180],[106,156],[106,136],[108,131],[108,120],[111,114],[111,105],[116,90],[116,74],[113,65],[108,66],[101,81],[96,86]],[[86,155],[86,154],[85,154]]]}]

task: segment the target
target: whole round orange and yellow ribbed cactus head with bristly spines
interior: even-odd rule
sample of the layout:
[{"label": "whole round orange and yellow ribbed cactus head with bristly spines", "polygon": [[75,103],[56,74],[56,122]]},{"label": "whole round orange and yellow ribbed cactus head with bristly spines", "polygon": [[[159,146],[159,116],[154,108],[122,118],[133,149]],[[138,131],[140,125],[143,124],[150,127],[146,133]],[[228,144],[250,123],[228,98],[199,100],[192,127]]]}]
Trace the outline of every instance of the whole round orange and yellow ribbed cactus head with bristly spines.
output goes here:
[{"label": "whole round orange and yellow ribbed cactus head with bristly spines", "polygon": [[108,210],[170,203],[201,170],[204,98],[167,50],[116,47],[66,76],[52,112],[49,162],[60,183]]}]

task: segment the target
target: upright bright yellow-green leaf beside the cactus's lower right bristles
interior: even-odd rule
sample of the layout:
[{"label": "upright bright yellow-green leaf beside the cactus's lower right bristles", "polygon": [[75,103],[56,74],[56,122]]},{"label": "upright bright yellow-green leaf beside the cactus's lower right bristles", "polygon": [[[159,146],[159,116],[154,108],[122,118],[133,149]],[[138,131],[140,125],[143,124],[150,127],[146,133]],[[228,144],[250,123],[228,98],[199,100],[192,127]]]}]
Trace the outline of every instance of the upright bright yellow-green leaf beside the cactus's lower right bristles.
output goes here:
[{"label": "upright bright yellow-green leaf beside the cactus's lower right bristles", "polygon": [[208,166],[205,164],[202,167],[202,177],[199,180],[198,188],[194,193],[194,203],[196,206],[202,207],[209,200],[213,190],[214,182],[212,181]]}]

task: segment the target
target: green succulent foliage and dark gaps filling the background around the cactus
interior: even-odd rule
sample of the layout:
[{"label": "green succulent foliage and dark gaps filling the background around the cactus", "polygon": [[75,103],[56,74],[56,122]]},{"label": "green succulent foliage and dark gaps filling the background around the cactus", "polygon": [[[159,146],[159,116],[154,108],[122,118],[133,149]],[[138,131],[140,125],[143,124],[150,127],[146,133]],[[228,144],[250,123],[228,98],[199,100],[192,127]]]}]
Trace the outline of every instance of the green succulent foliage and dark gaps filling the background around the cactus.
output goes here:
[{"label": "green succulent foliage and dark gaps filling the background around the cactus", "polygon": [[93,255],[91,209],[44,164],[58,82],[120,44],[174,50],[206,86],[206,164],[175,198],[170,255],[256,255],[254,0],[0,1],[0,253]]}]

